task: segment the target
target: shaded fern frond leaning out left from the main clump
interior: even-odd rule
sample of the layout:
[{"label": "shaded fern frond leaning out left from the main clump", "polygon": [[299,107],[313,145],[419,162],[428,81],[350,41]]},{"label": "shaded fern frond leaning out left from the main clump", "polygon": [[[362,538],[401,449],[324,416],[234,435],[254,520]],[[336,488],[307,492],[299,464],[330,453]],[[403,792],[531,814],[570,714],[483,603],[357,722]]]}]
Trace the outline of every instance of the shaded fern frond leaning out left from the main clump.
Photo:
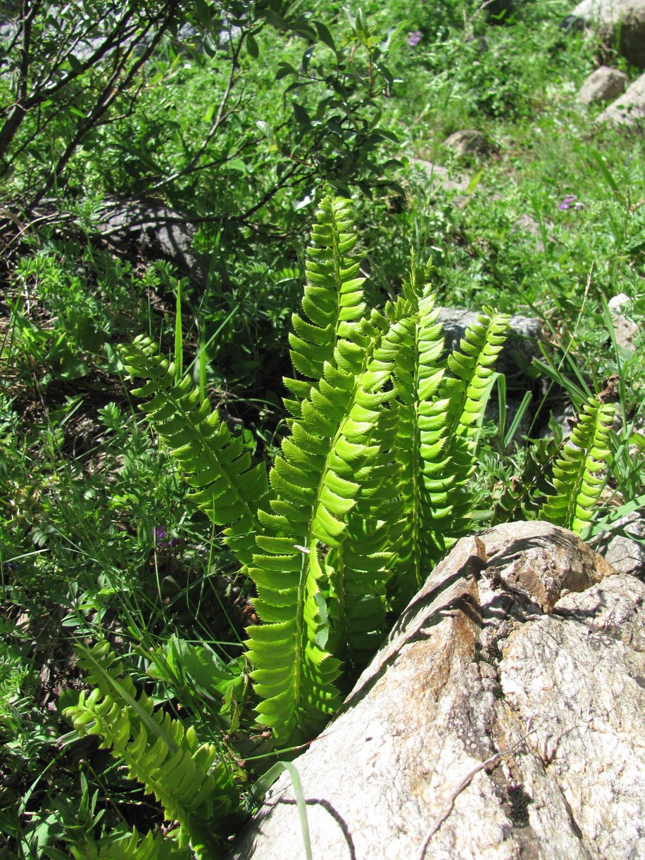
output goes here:
[{"label": "shaded fern frond leaning out left from the main clump", "polygon": [[120,347],[132,380],[144,384],[132,390],[150,398],[141,407],[194,488],[190,498],[216,525],[228,526],[224,538],[244,565],[251,561],[258,531],[257,508],[267,494],[264,464],[251,464],[240,437],[233,436],[188,377],[175,384],[174,365],[157,352],[156,345],[138,337]]}]

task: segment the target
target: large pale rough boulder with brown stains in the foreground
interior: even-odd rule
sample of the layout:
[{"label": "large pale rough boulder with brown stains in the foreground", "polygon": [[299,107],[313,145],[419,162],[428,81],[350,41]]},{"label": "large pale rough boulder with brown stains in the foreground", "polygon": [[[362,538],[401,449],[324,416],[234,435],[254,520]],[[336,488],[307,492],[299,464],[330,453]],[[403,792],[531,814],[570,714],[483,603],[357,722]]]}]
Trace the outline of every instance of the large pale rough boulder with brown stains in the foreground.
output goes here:
[{"label": "large pale rough boulder with brown stains in the foreground", "polygon": [[[295,760],[314,857],[645,856],[645,586],[497,526],[434,569]],[[228,857],[303,857],[283,776]]]}]

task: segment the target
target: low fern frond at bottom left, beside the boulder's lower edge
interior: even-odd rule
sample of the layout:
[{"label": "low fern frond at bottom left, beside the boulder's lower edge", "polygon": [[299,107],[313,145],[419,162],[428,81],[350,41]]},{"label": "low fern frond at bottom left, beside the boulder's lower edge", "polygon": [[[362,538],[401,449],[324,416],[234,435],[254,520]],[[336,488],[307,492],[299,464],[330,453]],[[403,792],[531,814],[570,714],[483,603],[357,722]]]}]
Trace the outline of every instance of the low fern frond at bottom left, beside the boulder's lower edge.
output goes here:
[{"label": "low fern frond at bottom left, beside the boulder's lower edge", "polygon": [[77,734],[98,735],[101,746],[123,759],[129,777],[157,797],[166,818],[179,822],[180,848],[189,842],[199,857],[217,857],[217,832],[240,818],[230,769],[214,765],[215,747],[198,746],[193,728],[154,710],[144,692],[137,694],[107,642],[79,653],[95,689],[87,696],[82,691],[64,716]]}]

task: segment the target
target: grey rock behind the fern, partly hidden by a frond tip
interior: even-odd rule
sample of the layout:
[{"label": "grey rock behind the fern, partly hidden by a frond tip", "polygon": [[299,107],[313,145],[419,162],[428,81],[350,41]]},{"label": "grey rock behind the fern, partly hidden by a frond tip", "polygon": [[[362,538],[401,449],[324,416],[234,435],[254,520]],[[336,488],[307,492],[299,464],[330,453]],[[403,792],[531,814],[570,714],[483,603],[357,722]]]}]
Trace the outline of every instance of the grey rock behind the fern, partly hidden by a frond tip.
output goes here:
[{"label": "grey rock behind the fern, partly hidden by a frond tip", "polygon": [[[441,308],[439,322],[443,326],[445,347],[457,349],[466,329],[476,322],[476,313],[458,308]],[[541,356],[538,341],[542,340],[542,322],[532,316],[512,316],[507,342],[497,359],[496,370],[507,377],[517,377],[534,358]]]}]

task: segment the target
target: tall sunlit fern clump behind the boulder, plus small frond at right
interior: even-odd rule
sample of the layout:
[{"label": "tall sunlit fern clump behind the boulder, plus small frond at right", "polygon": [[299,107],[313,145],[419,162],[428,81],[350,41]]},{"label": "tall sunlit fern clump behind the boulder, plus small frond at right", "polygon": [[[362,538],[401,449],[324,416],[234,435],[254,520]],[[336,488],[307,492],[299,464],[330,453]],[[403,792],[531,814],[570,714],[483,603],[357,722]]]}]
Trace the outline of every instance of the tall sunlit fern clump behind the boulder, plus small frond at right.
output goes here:
[{"label": "tall sunlit fern clump behind the boulder, plus small frond at right", "polygon": [[[414,259],[402,296],[368,311],[357,241],[348,201],[322,200],[292,316],[289,433],[268,476],[151,341],[121,350],[194,500],[224,526],[255,584],[256,710],[283,743],[322,728],[348,674],[378,647],[386,613],[472,530],[470,479],[508,329],[507,314],[485,308],[446,355]],[[581,453],[562,454],[544,507],[574,528],[588,519],[608,456],[609,410],[589,409],[574,436]]]}]

